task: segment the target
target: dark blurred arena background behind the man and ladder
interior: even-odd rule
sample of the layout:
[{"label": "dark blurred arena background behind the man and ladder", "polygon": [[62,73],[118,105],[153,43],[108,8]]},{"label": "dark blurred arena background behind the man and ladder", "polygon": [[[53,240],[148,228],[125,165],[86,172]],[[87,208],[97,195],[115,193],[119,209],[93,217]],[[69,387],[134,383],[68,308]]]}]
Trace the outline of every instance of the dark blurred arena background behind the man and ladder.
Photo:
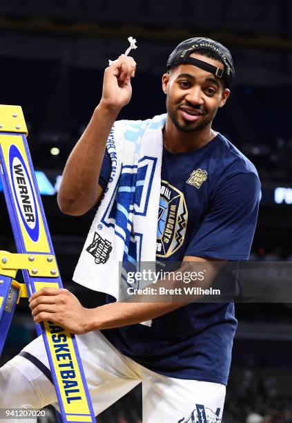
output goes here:
[{"label": "dark blurred arena background behind the man and ladder", "polygon": [[[260,173],[251,260],[292,261],[291,23],[289,0],[0,1],[0,103],[23,107],[61,276],[84,306],[103,301],[101,294],[88,298],[71,279],[94,211],[65,216],[56,193],[66,158],[99,102],[104,67],[126,50],[130,35],[137,39],[131,52],[137,73],[132,101],[120,118],[164,113],[161,75],[179,41],[204,35],[231,49],[236,79],[215,129]],[[0,249],[15,252],[1,187],[0,210]],[[236,309],[240,325],[223,422],[292,422],[292,303],[243,303]],[[21,301],[1,364],[33,337],[33,321]],[[98,421],[141,423],[140,389]],[[54,422],[53,414],[46,421]]]}]

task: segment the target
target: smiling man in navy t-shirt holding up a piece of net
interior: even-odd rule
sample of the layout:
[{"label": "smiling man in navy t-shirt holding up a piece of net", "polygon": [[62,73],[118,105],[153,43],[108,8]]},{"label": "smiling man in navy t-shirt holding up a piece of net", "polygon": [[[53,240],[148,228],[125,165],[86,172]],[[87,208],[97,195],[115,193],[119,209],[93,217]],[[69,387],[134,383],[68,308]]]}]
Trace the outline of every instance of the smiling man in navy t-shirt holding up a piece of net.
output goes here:
[{"label": "smiling man in navy t-shirt holding up a piece of net", "polygon": [[[58,203],[67,214],[84,214],[101,199],[111,167],[106,141],[130,101],[135,68],[131,57],[106,68],[101,102],[64,170]],[[157,261],[206,263],[215,276],[216,261],[248,259],[260,195],[253,164],[212,129],[230,94],[233,61],[217,41],[193,38],[175,48],[167,68]],[[164,209],[173,198],[185,232],[169,229]],[[172,240],[180,237],[176,247],[166,241],[166,227]],[[96,413],[142,381],[144,423],[220,422],[237,325],[233,303],[114,302],[86,309],[67,290],[45,288],[32,295],[30,308],[35,322],[54,321],[79,334]],[[148,319],[152,326],[138,324]],[[0,393],[10,386],[14,392],[13,401],[0,395],[0,407],[56,402],[37,364],[48,367],[42,339],[25,350],[26,358],[14,357],[0,370]]]}]

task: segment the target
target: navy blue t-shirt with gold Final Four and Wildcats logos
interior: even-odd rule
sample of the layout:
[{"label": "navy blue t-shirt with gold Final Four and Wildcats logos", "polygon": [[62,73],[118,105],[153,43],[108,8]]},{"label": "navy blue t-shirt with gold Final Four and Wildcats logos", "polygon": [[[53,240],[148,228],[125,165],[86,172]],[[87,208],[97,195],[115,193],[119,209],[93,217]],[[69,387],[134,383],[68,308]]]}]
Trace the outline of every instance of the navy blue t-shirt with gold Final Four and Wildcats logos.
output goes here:
[{"label": "navy blue t-shirt with gold Final Four and Wildcats logos", "polygon": [[[110,169],[106,152],[99,177],[104,189]],[[255,167],[220,133],[188,153],[164,148],[157,261],[249,259],[259,198]],[[177,214],[180,225],[171,225]],[[236,327],[233,303],[190,303],[153,319],[151,327],[102,332],[121,353],[157,373],[227,384]]]}]

